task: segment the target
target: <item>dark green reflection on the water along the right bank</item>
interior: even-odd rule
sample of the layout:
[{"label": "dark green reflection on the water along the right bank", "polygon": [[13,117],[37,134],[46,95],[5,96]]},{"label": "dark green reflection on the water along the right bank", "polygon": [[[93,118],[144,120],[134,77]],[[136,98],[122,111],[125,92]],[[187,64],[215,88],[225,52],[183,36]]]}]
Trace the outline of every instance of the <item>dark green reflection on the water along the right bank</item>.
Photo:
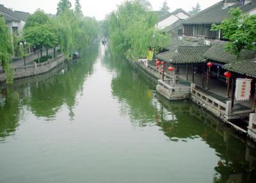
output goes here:
[{"label": "dark green reflection on the water along the right bank", "polygon": [[122,115],[129,116],[131,122],[140,127],[157,125],[175,143],[204,141],[219,157],[213,182],[255,182],[256,151],[252,143],[246,145],[246,138],[195,104],[168,102],[156,95],[145,79],[132,71],[126,61],[120,60],[122,58],[110,56],[104,64],[116,71],[112,93],[120,102]]}]

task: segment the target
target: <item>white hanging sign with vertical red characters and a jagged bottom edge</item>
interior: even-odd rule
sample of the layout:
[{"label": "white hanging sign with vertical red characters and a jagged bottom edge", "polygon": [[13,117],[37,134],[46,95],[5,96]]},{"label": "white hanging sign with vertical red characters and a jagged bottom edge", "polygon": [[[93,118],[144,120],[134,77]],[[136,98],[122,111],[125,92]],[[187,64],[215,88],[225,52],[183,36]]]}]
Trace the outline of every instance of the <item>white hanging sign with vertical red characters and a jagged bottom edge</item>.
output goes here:
[{"label": "white hanging sign with vertical red characters and a jagged bottom edge", "polygon": [[252,79],[236,79],[236,100],[246,101],[250,99]]}]

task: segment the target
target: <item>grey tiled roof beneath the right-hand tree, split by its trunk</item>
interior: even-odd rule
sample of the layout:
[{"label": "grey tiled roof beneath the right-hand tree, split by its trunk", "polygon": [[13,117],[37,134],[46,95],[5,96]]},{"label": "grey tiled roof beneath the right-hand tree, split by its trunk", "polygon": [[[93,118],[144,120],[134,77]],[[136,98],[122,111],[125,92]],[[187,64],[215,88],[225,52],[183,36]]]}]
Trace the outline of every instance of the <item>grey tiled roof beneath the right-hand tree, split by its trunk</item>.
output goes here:
[{"label": "grey tiled roof beneath the right-hand tree, split by its trunk", "polygon": [[[237,60],[237,56],[225,51],[225,44],[227,42],[216,42],[210,49],[208,49],[203,56],[207,59],[220,61],[222,63],[230,63]],[[243,50],[239,60],[248,60],[255,57],[255,51]]]}]

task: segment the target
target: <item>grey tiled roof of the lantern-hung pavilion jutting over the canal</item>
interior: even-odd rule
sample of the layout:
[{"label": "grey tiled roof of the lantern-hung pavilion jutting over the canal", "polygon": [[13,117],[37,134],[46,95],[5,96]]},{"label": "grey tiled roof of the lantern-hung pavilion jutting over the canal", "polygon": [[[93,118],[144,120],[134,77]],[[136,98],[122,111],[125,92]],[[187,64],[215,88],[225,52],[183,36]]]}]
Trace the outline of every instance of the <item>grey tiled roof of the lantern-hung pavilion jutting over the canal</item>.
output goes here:
[{"label": "grey tiled roof of the lantern-hung pavilion jutting over the canal", "polygon": [[175,51],[167,51],[157,55],[160,60],[168,63],[185,64],[185,63],[204,63],[202,56],[209,46],[178,46]]}]

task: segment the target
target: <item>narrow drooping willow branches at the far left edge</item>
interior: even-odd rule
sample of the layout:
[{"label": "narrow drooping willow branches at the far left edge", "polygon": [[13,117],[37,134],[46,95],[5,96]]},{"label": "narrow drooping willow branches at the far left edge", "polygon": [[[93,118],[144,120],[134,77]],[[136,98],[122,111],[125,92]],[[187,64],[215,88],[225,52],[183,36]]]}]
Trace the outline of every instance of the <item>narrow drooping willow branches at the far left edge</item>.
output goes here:
[{"label": "narrow drooping willow branches at the far left edge", "polygon": [[13,81],[13,70],[10,68],[12,54],[13,47],[10,30],[6,27],[5,21],[0,15],[0,61],[6,72],[6,83],[12,83]]}]

